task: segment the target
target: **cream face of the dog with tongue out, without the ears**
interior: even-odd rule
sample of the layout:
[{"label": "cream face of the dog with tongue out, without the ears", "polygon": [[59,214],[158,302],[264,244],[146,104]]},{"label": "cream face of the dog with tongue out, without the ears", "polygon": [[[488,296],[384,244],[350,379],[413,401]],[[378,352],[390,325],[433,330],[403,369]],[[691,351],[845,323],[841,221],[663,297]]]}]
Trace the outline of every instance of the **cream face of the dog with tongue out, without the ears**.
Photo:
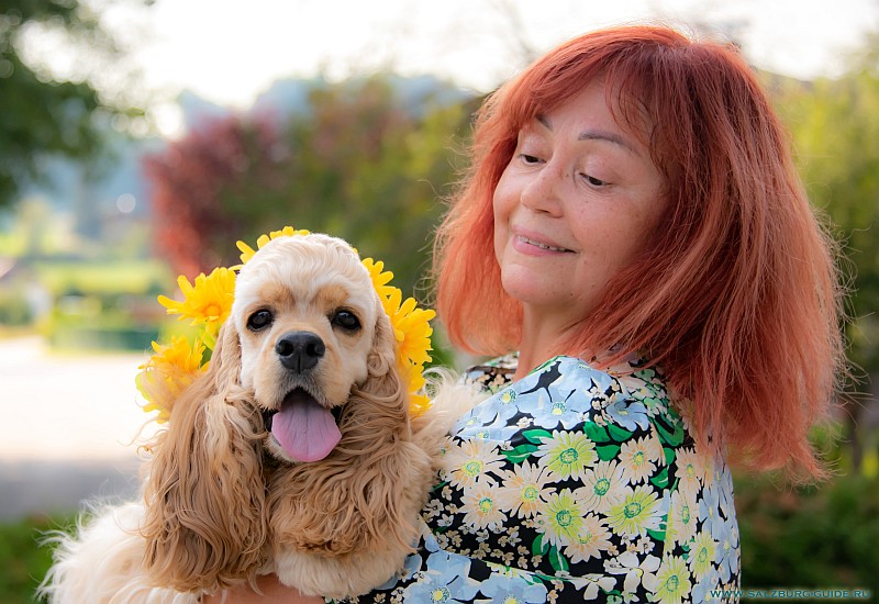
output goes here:
[{"label": "cream face of the dog with tongue out, without the ears", "polygon": [[338,444],[342,406],[367,380],[370,354],[392,354],[381,321],[369,273],[342,239],[280,237],[242,267],[230,322],[272,455],[316,461]]}]

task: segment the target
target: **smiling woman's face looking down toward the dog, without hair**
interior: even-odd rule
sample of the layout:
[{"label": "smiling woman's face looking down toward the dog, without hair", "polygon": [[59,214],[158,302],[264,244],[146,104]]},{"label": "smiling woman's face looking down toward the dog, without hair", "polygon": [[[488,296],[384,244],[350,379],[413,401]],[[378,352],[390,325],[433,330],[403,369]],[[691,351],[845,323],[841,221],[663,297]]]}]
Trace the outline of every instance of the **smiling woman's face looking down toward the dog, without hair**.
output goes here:
[{"label": "smiling woman's face looking down toward the dog, without hair", "polygon": [[503,288],[526,317],[574,325],[592,312],[659,224],[663,183],[641,137],[611,116],[601,81],[526,124],[493,201]]}]

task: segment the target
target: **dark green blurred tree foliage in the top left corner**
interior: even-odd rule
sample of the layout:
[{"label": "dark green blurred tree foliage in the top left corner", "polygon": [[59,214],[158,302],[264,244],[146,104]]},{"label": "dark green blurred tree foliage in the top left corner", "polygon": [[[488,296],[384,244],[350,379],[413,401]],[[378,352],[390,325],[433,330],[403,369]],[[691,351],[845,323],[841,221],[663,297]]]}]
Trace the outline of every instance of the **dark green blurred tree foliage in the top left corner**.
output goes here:
[{"label": "dark green blurred tree foliage in the top left corner", "polygon": [[138,113],[112,104],[88,74],[63,79],[49,66],[25,60],[40,36],[63,37],[71,52],[78,48],[88,56],[119,56],[98,16],[78,0],[4,0],[0,9],[0,206],[15,199],[23,182],[40,179],[47,155],[92,159],[103,148],[107,119]]}]

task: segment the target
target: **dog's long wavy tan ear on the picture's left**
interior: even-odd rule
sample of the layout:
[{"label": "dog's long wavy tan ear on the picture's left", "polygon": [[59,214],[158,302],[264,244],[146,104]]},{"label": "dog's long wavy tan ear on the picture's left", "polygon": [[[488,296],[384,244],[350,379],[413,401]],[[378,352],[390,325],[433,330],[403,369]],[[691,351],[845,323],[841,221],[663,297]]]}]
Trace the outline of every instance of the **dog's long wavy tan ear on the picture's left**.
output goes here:
[{"label": "dog's long wavy tan ear on the picture's left", "polygon": [[262,420],[240,385],[232,321],[210,367],[173,407],[146,480],[144,566],[157,585],[215,591],[264,560]]}]

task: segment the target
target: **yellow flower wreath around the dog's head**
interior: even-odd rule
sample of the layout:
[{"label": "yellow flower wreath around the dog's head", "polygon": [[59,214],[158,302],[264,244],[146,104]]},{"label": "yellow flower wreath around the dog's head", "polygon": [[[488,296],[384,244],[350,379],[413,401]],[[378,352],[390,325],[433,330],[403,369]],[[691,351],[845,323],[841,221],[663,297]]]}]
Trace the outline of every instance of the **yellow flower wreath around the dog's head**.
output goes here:
[{"label": "yellow flower wreath around the dog's head", "polygon": [[[308,235],[304,230],[285,226],[281,231],[272,231],[262,235],[257,241],[257,249],[278,237]],[[237,242],[241,261],[246,264],[256,250]],[[356,251],[356,250],[355,250]],[[432,310],[420,309],[414,298],[402,299],[402,291],[390,284],[393,273],[385,271],[385,264],[372,258],[363,260],[369,272],[372,287],[381,300],[385,312],[391,322],[397,339],[397,361],[400,374],[407,383],[410,394],[409,412],[418,417],[430,406],[424,394],[424,365],[430,362],[431,336],[433,328],[430,321],[436,316]],[[231,268],[216,268],[210,275],[199,275],[194,283],[181,276],[177,283],[183,294],[178,302],[166,295],[159,295],[158,302],[167,309],[168,314],[180,315],[180,321],[190,320],[193,326],[201,326],[201,334],[193,343],[181,337],[173,337],[169,346],[153,343],[155,354],[140,367],[136,383],[141,394],[147,401],[144,411],[158,411],[156,421],[167,422],[170,406],[177,394],[192,383],[196,377],[208,366],[207,350],[213,350],[220,325],[229,317],[235,295],[235,276],[241,265]]]}]

